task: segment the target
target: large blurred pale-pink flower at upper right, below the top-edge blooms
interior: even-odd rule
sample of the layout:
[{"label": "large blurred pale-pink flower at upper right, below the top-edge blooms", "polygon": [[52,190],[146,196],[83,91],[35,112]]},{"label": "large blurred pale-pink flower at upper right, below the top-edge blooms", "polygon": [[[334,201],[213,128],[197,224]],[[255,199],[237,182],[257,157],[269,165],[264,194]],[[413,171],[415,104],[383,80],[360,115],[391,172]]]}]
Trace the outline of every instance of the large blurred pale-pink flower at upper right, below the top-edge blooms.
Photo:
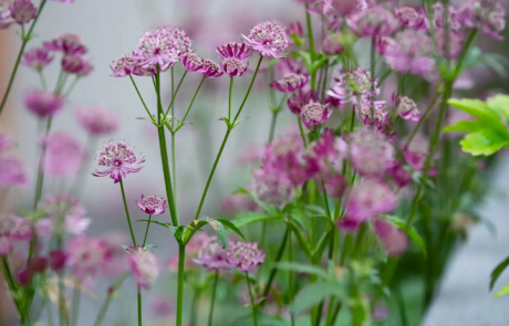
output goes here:
[{"label": "large blurred pale-pink flower at upper right, below the top-edge blooms", "polygon": [[425,74],[435,69],[433,42],[425,31],[404,30],[387,42],[384,59],[387,64],[401,73]]}]

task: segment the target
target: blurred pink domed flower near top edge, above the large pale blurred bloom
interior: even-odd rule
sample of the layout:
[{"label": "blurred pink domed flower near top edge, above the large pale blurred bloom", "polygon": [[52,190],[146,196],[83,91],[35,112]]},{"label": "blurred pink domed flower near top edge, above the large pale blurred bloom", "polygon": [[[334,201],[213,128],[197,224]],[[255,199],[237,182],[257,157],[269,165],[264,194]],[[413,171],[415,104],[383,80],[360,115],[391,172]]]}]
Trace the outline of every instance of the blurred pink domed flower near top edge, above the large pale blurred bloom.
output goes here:
[{"label": "blurred pink domed flower near top edge, above the large pale blurred bloom", "polygon": [[392,34],[398,25],[394,15],[382,7],[370,7],[347,19],[351,31],[360,38],[380,38]]}]

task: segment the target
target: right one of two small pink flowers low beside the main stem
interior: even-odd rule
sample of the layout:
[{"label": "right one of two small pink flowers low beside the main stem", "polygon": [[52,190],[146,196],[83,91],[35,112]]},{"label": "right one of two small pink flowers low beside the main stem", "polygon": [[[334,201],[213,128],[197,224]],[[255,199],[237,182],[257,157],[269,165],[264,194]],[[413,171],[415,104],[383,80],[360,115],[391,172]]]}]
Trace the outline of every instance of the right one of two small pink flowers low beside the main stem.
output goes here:
[{"label": "right one of two small pink flowers low beside the main stem", "polygon": [[256,242],[237,242],[228,250],[226,259],[230,267],[249,272],[252,267],[263,263],[266,253],[258,249],[258,243]]}]

